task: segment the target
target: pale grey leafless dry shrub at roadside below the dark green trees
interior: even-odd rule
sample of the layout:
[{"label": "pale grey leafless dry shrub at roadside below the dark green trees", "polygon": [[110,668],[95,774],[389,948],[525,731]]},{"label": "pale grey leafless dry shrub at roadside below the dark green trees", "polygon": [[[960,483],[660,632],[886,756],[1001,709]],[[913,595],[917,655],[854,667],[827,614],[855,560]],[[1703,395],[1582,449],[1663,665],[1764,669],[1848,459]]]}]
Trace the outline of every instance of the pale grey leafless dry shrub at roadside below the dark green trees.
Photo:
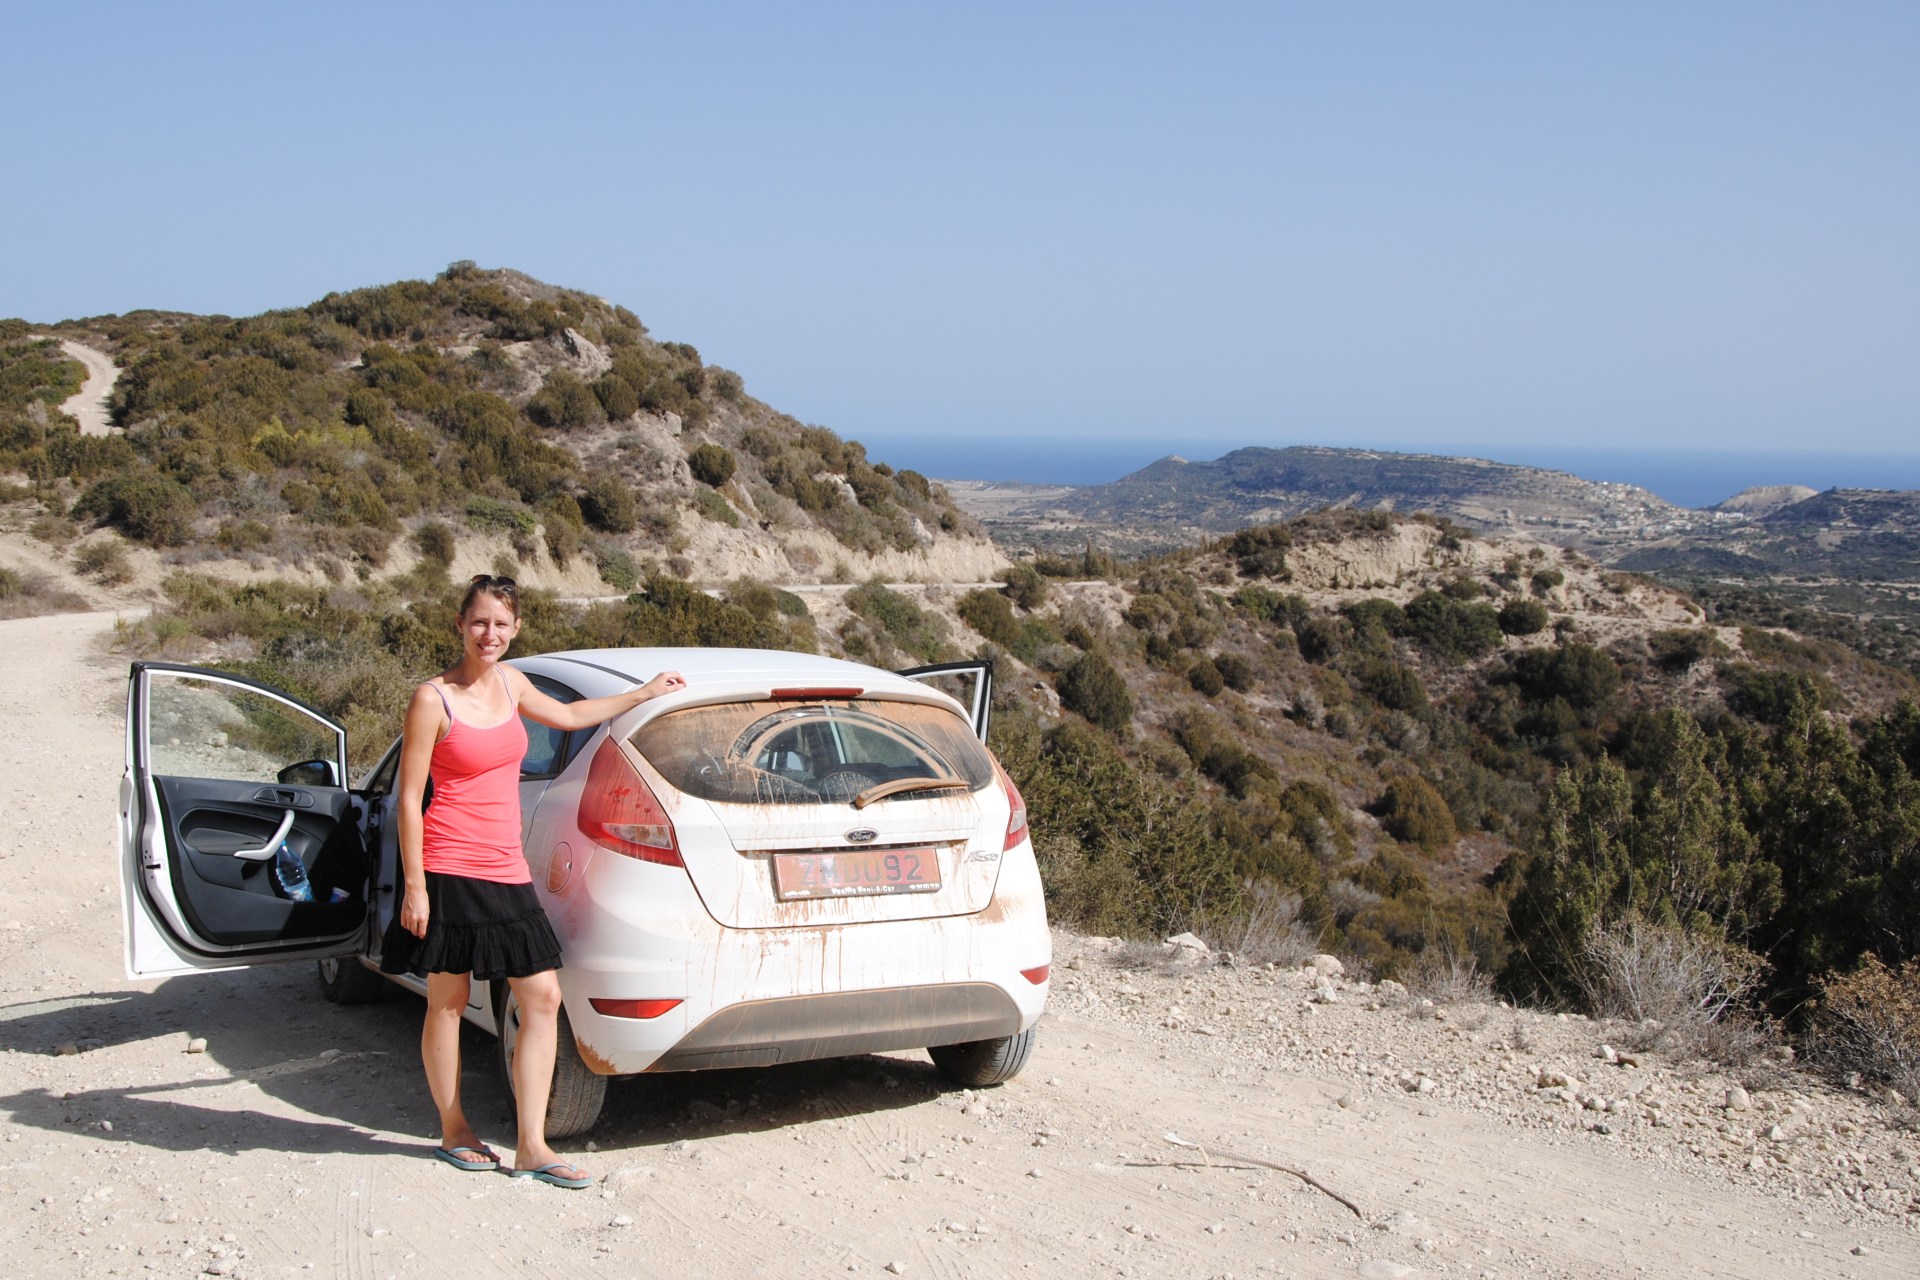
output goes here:
[{"label": "pale grey leafless dry shrub at roadside below the dark green trees", "polygon": [[1665,1048],[1730,1067],[1751,1067],[1778,1042],[1753,1015],[1766,961],[1753,952],[1680,929],[1628,919],[1594,931],[1586,944],[1586,1000],[1601,1017],[1645,1029],[1644,1048]]}]

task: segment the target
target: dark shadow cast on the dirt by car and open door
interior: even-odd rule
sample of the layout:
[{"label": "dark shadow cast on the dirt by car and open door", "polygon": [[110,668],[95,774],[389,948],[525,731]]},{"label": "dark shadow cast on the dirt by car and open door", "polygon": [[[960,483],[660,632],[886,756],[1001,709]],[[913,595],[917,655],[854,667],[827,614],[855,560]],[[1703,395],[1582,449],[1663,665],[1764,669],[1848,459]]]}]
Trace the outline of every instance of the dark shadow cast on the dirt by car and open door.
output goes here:
[{"label": "dark shadow cast on the dirt by car and open door", "polygon": [[[6,1052],[75,1063],[69,1054],[156,1040],[159,1054],[179,1059],[152,1069],[150,1082],[21,1088],[0,1096],[0,1111],[23,1126],[175,1151],[413,1151],[438,1136],[419,1059],[422,1011],[424,1002],[401,988],[372,1004],[328,1004],[311,963],[6,1006]],[[461,1031],[467,1113],[482,1134],[511,1142],[513,1096],[497,1040],[470,1025]],[[188,1052],[196,1038],[205,1040],[204,1054]],[[152,1063],[152,1054],[142,1061]],[[56,1079],[92,1075],[75,1069]],[[616,1079],[601,1121],[561,1146],[655,1148],[916,1107],[954,1088],[927,1061],[883,1055]],[[246,1098],[252,1090],[305,1115],[255,1109]],[[396,1140],[396,1132],[417,1138]]]}]

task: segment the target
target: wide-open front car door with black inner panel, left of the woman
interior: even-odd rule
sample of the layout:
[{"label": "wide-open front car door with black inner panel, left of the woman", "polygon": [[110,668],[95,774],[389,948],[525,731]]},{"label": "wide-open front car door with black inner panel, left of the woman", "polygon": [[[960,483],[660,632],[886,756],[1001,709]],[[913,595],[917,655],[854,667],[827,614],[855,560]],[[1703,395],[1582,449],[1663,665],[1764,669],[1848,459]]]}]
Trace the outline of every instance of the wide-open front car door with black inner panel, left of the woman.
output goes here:
[{"label": "wide-open front car door with black inner panel, left of the woman", "polygon": [[[369,858],[346,754],[346,729],[278,689],[132,664],[119,796],[129,975],[365,948]],[[278,885],[282,844],[311,902]]]}]

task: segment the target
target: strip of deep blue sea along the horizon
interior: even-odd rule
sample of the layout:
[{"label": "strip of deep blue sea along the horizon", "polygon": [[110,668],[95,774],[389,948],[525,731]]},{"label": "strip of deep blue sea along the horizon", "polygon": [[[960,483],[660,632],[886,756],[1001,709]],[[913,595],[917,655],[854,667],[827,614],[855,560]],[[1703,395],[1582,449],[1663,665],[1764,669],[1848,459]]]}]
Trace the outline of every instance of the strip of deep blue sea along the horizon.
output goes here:
[{"label": "strip of deep blue sea along the horizon", "polygon": [[[1248,441],[1079,439],[1069,436],[860,436],[868,457],[933,480],[1112,484],[1169,453],[1210,462]],[[1263,445],[1284,447],[1284,445]],[[1367,447],[1367,445],[1356,445]],[[1384,445],[1382,445],[1384,449]],[[1920,489],[1920,453],[1711,453],[1659,449],[1555,449],[1528,445],[1396,445],[1563,470],[1582,480],[1638,484],[1678,507],[1713,507],[1741,489],[1803,484],[1811,489]]]}]

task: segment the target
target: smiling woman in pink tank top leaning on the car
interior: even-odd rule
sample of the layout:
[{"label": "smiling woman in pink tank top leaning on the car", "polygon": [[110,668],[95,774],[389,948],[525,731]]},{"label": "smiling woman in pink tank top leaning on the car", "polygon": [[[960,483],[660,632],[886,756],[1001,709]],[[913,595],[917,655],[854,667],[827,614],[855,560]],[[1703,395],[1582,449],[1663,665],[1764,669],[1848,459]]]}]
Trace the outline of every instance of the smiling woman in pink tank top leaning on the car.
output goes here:
[{"label": "smiling woman in pink tank top leaning on the car", "polygon": [[[470,979],[505,979],[520,1006],[513,1096],[520,1136],[516,1178],[584,1188],[586,1171],[547,1146],[547,1092],[561,1013],[561,944],[534,896],[520,850],[520,716],[586,729],[662,693],[685,689],[662,672],[639,689],[557,702],[503,666],[520,631],[513,578],[480,574],[461,601],[461,660],[413,691],[399,743],[399,862],[403,894],[380,956],[386,973],[426,979],[420,1061],[440,1109],[434,1155],[457,1169],[501,1169],[461,1109],[461,1011]],[[422,814],[428,775],[434,804]]]}]

